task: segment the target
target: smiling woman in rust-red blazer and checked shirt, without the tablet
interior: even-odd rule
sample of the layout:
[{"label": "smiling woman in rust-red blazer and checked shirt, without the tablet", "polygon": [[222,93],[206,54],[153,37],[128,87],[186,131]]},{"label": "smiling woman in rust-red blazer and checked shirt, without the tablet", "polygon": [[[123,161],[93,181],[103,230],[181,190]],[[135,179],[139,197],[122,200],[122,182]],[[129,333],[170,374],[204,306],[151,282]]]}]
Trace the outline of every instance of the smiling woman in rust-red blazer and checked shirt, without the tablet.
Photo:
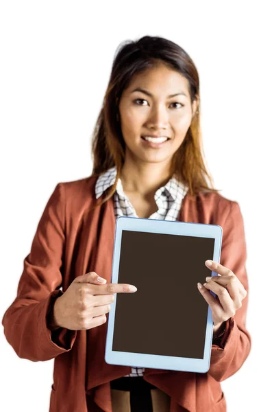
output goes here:
[{"label": "smiling woman in rust-red blazer and checked shirt, without the tablet", "polygon": [[[181,47],[145,36],[119,49],[95,128],[92,175],[55,187],[3,317],[18,356],[54,358],[51,412],[226,410],[220,382],[251,348],[245,232],[238,203],[212,187],[203,163],[199,106],[197,69]],[[110,283],[121,215],[223,227],[221,263],[205,262],[219,277],[197,285],[214,321],[208,373],[105,363],[114,293],[134,293]]]}]

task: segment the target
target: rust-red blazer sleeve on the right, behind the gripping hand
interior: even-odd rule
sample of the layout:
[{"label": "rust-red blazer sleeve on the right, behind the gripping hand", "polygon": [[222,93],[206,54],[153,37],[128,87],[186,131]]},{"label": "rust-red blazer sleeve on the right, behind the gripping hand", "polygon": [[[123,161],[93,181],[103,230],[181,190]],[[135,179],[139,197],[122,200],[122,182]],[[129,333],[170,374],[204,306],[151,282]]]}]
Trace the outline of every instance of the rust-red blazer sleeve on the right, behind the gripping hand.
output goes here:
[{"label": "rust-red blazer sleeve on the right, behind the gripping hand", "polygon": [[251,350],[251,335],[246,328],[248,304],[248,279],[246,270],[247,247],[240,206],[229,201],[230,207],[223,223],[223,242],[220,263],[231,269],[247,290],[242,306],[225,322],[225,334],[220,345],[212,345],[210,374],[221,382],[235,374]]}]

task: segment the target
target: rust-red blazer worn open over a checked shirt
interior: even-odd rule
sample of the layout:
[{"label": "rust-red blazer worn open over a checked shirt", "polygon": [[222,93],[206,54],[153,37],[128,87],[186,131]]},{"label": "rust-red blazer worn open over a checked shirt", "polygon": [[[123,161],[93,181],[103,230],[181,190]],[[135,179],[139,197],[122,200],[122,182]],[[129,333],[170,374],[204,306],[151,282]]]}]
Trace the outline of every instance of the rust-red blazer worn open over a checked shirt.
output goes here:
[{"label": "rust-red blazer worn open over a checked shirt", "polygon": [[[97,202],[96,181],[96,176],[89,176],[56,185],[23,262],[16,299],[2,321],[6,339],[20,358],[34,362],[54,358],[50,412],[112,412],[109,382],[131,372],[131,367],[105,363],[108,316],[106,323],[90,330],[47,328],[55,299],[75,277],[95,271],[111,282],[114,203],[112,197],[90,209]],[[221,194],[187,193],[178,220],[220,225],[221,264],[248,290],[245,230],[238,203]],[[226,322],[221,345],[212,345],[206,374],[145,369],[145,380],[171,396],[171,412],[226,410],[220,382],[238,371],[251,349],[245,326],[247,301],[248,297]]]}]

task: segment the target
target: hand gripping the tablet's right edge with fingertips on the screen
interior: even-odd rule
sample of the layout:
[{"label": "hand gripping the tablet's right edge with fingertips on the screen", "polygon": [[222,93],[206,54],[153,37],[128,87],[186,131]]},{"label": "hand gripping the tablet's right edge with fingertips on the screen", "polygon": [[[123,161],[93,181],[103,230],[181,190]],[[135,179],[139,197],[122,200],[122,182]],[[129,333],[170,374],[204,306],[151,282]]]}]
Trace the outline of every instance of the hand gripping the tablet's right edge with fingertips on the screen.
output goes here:
[{"label": "hand gripping the tablet's right edge with fingertips on the screen", "polygon": [[[211,271],[218,273],[218,276],[206,277],[206,283],[203,286],[198,284],[198,288],[212,310],[215,335],[221,329],[223,322],[234,316],[236,310],[242,306],[242,300],[247,296],[247,290],[229,268],[217,262],[212,262],[210,265],[210,262],[212,261],[206,260],[206,266]],[[216,294],[216,298],[212,296],[210,290]]]}]

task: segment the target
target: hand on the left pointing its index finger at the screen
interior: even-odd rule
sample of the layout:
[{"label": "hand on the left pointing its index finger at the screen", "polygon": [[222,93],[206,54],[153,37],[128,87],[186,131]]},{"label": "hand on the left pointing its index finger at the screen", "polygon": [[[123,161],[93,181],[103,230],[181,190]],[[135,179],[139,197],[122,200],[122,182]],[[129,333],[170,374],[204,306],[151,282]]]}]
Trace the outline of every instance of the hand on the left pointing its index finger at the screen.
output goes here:
[{"label": "hand on the left pointing its index finger at the screen", "polygon": [[[106,322],[105,314],[110,312],[114,293],[136,292],[128,284],[107,284],[99,282],[95,272],[76,277],[66,292],[55,300],[49,328],[87,330]],[[134,288],[131,290],[131,288]]]}]

